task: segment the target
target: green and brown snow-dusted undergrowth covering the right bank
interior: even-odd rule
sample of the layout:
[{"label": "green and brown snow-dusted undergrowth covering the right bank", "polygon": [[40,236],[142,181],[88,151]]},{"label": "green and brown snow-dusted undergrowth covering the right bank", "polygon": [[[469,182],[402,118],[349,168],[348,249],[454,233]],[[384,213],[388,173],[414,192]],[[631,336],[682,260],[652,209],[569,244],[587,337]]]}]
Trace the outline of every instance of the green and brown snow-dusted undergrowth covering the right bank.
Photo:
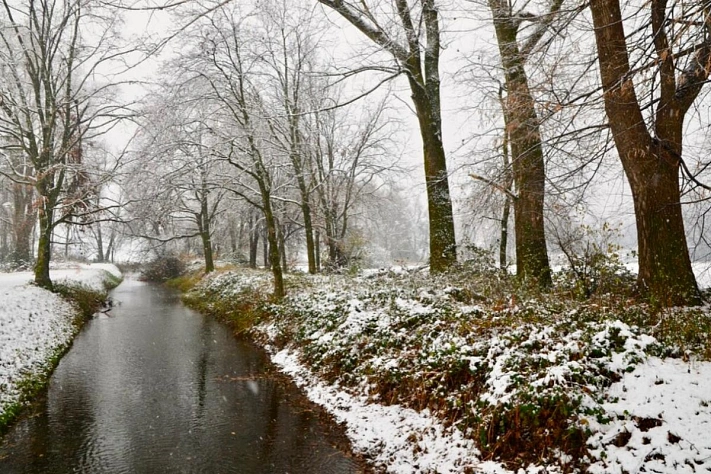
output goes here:
[{"label": "green and brown snow-dusted undergrowth covering the right bank", "polygon": [[581,300],[568,285],[541,293],[466,265],[436,277],[288,276],[287,285],[290,296],[270,301],[265,274],[227,272],[184,299],[274,350],[297,348],[354,394],[429,409],[510,468],[584,470],[589,427],[609,421],[606,387],[650,354],[711,359],[707,309],[654,309],[628,286]]}]

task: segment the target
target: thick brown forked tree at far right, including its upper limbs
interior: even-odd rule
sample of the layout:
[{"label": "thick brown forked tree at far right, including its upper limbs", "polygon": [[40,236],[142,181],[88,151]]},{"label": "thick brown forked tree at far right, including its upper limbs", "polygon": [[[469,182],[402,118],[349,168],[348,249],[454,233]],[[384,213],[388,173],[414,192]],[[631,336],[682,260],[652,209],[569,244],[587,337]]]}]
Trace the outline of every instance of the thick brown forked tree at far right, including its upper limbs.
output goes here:
[{"label": "thick brown forked tree at far right, including its upper limbs", "polygon": [[[590,3],[605,110],[634,199],[638,288],[665,305],[695,304],[701,299],[686,242],[679,172],[684,118],[711,73],[711,6],[651,0],[631,8],[630,18],[638,23],[627,36],[619,0]],[[643,22],[644,12],[649,17]],[[631,54],[641,63],[635,68]],[[653,80],[645,81],[645,75]],[[652,112],[648,120],[646,110]]]}]

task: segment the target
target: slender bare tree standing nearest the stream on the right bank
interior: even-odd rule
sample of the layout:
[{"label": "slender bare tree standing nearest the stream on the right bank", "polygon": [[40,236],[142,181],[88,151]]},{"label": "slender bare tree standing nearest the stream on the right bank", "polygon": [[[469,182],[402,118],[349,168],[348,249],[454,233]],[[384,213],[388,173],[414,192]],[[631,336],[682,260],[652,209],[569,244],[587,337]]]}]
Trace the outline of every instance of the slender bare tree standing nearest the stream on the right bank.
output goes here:
[{"label": "slender bare tree standing nearest the stream on the right bank", "polygon": [[186,83],[206,87],[206,99],[217,107],[216,127],[221,146],[217,156],[236,171],[228,189],[262,211],[267,230],[269,266],[274,295],[284,296],[279,223],[274,199],[284,175],[283,156],[275,151],[270,134],[267,98],[259,85],[258,35],[241,24],[241,13],[228,7],[206,16],[197,33],[199,46],[183,62]]}]

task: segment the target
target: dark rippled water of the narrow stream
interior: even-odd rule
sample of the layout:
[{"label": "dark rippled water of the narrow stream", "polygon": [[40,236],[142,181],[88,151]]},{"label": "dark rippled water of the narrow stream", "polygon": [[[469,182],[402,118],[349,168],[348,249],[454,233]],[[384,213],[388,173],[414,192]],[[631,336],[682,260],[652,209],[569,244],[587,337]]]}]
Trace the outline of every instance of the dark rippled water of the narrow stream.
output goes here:
[{"label": "dark rippled water of the narrow stream", "polygon": [[360,471],[251,344],[162,287],[127,280],[113,296],[0,441],[0,473]]}]

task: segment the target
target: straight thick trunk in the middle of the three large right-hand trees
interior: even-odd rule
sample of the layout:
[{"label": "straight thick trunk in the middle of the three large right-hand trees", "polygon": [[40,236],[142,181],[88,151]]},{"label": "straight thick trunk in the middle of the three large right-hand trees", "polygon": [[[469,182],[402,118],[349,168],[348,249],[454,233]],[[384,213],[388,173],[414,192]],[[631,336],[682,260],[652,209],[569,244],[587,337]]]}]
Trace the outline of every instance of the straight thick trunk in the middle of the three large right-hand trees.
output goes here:
[{"label": "straight thick trunk in the middle of the three large right-hand trees", "polygon": [[552,281],[543,220],[545,164],[539,119],[516,39],[519,21],[503,13],[497,2],[489,5],[506,81],[504,121],[518,196],[513,203],[516,274],[547,287]]}]

